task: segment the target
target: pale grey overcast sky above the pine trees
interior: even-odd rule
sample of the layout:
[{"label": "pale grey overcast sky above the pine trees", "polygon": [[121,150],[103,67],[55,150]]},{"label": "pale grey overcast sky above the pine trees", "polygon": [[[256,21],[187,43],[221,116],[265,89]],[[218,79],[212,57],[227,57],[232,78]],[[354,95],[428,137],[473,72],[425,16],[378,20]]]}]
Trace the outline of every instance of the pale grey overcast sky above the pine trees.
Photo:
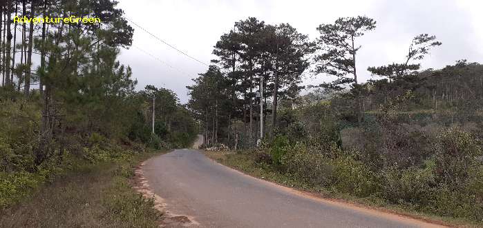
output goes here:
[{"label": "pale grey overcast sky above the pine trees", "polygon": [[[366,71],[368,66],[401,62],[411,39],[421,33],[434,34],[443,43],[424,59],[423,68],[442,68],[459,59],[470,62],[482,62],[483,59],[483,14],[480,12],[483,1],[480,0],[118,1],[126,17],[205,63],[215,58],[211,51],[220,36],[229,32],[235,21],[247,17],[271,24],[290,23],[299,32],[315,39],[319,24],[358,15],[377,21],[376,30],[357,41],[363,46],[357,56],[358,74],[363,81],[370,79]],[[138,89],[148,84],[167,87],[186,103],[189,96],[185,86],[190,85],[198,73],[205,72],[207,66],[132,26],[135,29],[133,47],[122,50],[120,61],[133,68]],[[304,83],[318,84],[323,79],[323,76],[309,78]]]}]

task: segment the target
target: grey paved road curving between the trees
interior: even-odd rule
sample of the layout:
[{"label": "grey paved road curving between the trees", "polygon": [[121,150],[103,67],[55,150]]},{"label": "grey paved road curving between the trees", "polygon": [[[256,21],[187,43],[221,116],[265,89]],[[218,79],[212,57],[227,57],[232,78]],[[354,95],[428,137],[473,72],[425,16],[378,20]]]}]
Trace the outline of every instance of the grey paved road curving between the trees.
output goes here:
[{"label": "grey paved road curving between the trees", "polygon": [[428,223],[305,196],[247,176],[195,149],[146,161],[144,176],[173,214],[201,227],[431,227]]}]

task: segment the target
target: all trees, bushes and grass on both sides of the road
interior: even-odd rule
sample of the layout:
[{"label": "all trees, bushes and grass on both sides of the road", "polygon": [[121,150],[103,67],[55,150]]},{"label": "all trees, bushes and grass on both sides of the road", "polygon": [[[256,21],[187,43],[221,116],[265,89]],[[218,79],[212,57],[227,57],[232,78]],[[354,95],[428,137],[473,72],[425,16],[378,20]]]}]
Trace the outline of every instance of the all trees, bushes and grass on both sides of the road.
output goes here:
[{"label": "all trees, bushes and grass on both sides of the road", "polygon": [[[287,187],[482,225],[483,65],[423,69],[437,34],[414,34],[400,62],[356,68],[375,19],[341,17],[309,37],[248,17],[214,41],[182,104],[137,87],[119,61],[134,28],[117,5],[0,2],[0,225],[157,227],[134,168],[197,134],[229,150],[225,165]],[[14,20],[71,16],[102,22]],[[305,85],[314,78],[325,82]]]}]

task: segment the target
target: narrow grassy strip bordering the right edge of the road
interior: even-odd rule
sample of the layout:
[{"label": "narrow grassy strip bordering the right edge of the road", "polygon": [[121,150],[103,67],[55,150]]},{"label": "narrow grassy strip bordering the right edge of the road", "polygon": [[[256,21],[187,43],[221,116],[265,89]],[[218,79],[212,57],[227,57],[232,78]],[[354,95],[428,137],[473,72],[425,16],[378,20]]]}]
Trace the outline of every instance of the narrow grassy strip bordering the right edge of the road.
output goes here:
[{"label": "narrow grassy strip bordering the right edge of the road", "polygon": [[390,213],[426,220],[428,222],[436,222],[438,224],[448,225],[451,227],[483,227],[483,221],[475,222],[462,218],[435,216],[433,214],[426,214],[416,211],[415,209],[412,209],[410,205],[408,205],[407,207],[392,205],[386,203],[385,200],[377,197],[357,198],[355,196],[351,196],[350,194],[341,194],[337,191],[334,191],[334,189],[314,187],[305,183],[301,178],[282,174],[270,165],[267,165],[265,163],[256,163],[256,157],[253,153],[250,152],[205,151],[205,154],[209,158],[218,161],[218,163],[221,163],[222,165],[226,165],[233,169],[237,169],[238,171],[248,174],[249,176],[268,180],[272,183],[277,183],[285,187],[292,187],[294,189],[306,191],[310,194],[314,194],[315,196],[326,198],[328,200],[338,200],[343,203],[352,203],[361,207],[377,209],[379,211],[387,211]]}]

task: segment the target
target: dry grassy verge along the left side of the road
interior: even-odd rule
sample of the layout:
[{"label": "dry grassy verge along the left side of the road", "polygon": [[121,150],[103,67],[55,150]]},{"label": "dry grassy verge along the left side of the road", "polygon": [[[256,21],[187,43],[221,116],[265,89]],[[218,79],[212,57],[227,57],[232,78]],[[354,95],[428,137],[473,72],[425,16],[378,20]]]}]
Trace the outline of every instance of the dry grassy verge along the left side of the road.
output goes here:
[{"label": "dry grassy verge along the left side of the road", "polygon": [[134,167],[156,154],[75,165],[17,205],[0,210],[0,227],[158,227],[162,214],[131,185]]}]

